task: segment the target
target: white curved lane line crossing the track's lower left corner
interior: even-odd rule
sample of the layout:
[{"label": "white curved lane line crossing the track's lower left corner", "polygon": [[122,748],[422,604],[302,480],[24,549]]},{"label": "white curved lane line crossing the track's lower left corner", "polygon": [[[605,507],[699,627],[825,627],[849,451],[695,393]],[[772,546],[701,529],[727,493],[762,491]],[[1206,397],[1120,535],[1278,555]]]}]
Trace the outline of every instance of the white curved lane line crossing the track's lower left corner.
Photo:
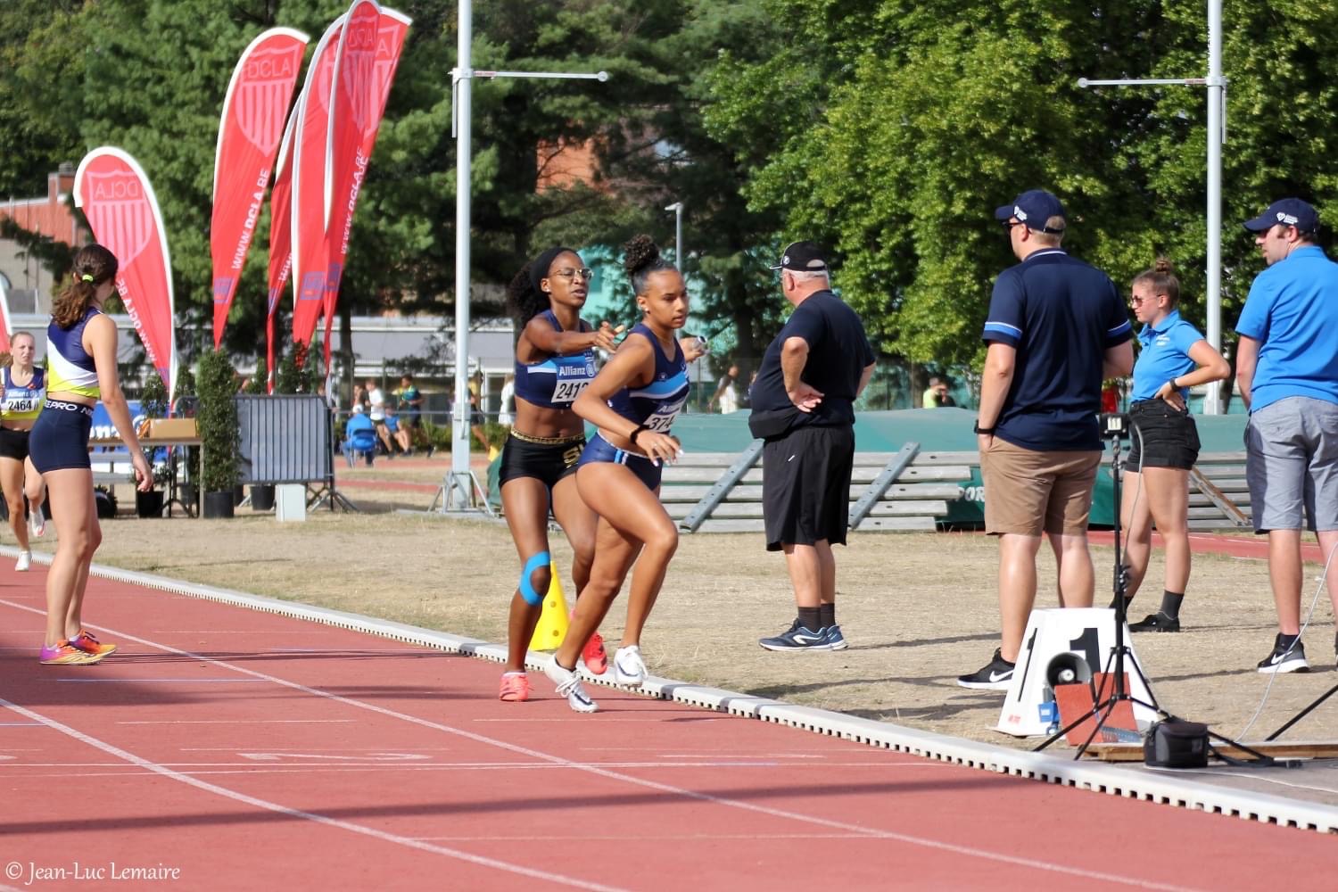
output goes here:
[{"label": "white curved lane line crossing the track's lower left corner", "polygon": [[92,746],[95,749],[100,749],[102,752],[104,752],[104,753],[107,753],[110,756],[115,756],[116,758],[123,760],[126,762],[130,762],[131,765],[135,765],[135,766],[142,768],[145,770],[153,772],[155,774],[162,774],[163,777],[171,778],[171,780],[178,781],[181,784],[187,784],[187,785],[194,786],[197,789],[205,790],[206,793],[213,793],[215,796],[222,796],[223,798],[229,798],[229,800],[233,800],[235,802],[242,802],[245,805],[252,805],[254,808],[261,808],[261,809],[265,809],[268,812],[276,812],[278,814],[286,814],[289,817],[298,817],[298,818],[302,818],[302,820],[306,820],[306,821],[312,821],[314,824],[322,824],[325,826],[334,826],[334,828],[339,828],[341,830],[349,830],[351,833],[359,833],[361,836],[369,836],[372,839],[381,840],[384,843],[395,843],[396,845],[403,845],[403,847],[411,848],[411,849],[419,849],[421,852],[429,852],[432,855],[444,855],[447,857],[458,859],[460,861],[468,861],[470,864],[476,864],[479,867],[488,867],[488,868],[494,868],[494,869],[498,869],[498,871],[506,871],[508,873],[516,873],[519,876],[527,876],[527,877],[531,877],[531,879],[535,879],[535,880],[546,880],[549,883],[559,883],[562,885],[571,885],[571,887],[575,887],[578,889],[597,889],[599,892],[614,892],[614,889],[615,889],[615,887],[607,887],[607,885],[601,885],[598,883],[590,883],[590,881],[586,881],[586,880],[578,880],[575,877],[563,876],[561,873],[550,873],[549,871],[537,871],[534,868],[522,867],[519,864],[508,864],[507,861],[499,861],[496,859],[490,859],[490,857],[484,857],[484,856],[480,856],[480,855],[471,855],[468,852],[462,852],[459,849],[446,848],[443,845],[435,845],[432,843],[423,843],[420,840],[415,840],[415,839],[411,839],[411,837],[407,837],[407,836],[399,836],[396,833],[387,833],[385,830],[377,830],[377,829],[371,828],[371,826],[363,826],[361,824],[352,824],[349,821],[341,821],[339,818],[326,817],[324,814],[316,814],[313,812],[304,812],[301,809],[289,808],[286,805],[280,805],[277,802],[270,802],[268,800],[257,798],[254,796],[248,796],[246,793],[238,793],[237,790],[230,790],[226,786],[218,786],[217,784],[210,784],[209,781],[201,781],[201,780],[194,778],[194,777],[191,777],[189,774],[182,774],[181,772],[174,772],[173,769],[170,769],[170,768],[167,768],[165,765],[159,765],[157,762],[151,762],[147,758],[142,758],[139,756],[135,756],[134,753],[126,752],[126,750],[120,749],[119,746],[114,746],[112,744],[107,744],[106,741],[100,741],[96,737],[90,737],[88,734],[84,734],[83,732],[75,730],[74,728],[70,728],[68,725],[63,725],[62,722],[58,722],[54,718],[48,718],[45,715],[41,715],[40,713],[35,713],[31,709],[25,709],[23,706],[19,706],[17,703],[11,703],[9,701],[4,699],[3,697],[0,697],[0,706],[4,706],[5,709],[11,709],[11,710],[19,713],[20,715],[25,715],[27,718],[31,718],[31,719],[33,719],[36,722],[41,722],[43,725],[45,725],[47,728],[50,728],[52,730],[60,732],[62,734],[66,734],[67,737],[72,737],[74,740],[79,741],[80,744],[87,745],[87,746]]}]

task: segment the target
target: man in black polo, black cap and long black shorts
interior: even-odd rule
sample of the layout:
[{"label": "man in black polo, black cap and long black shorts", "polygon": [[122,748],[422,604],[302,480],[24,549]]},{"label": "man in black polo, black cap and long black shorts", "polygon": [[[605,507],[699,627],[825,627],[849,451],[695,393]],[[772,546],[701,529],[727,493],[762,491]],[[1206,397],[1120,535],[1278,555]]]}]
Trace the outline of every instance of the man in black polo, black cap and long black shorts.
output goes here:
[{"label": "man in black polo, black cap and long black shorts", "polygon": [[795,305],[757,369],[748,428],[763,437],[767,551],[784,551],[799,618],[767,650],[844,650],[836,625],[836,559],[846,544],[855,460],[855,397],[874,350],[855,312],[832,294],[812,242],[784,250],[780,288]]}]

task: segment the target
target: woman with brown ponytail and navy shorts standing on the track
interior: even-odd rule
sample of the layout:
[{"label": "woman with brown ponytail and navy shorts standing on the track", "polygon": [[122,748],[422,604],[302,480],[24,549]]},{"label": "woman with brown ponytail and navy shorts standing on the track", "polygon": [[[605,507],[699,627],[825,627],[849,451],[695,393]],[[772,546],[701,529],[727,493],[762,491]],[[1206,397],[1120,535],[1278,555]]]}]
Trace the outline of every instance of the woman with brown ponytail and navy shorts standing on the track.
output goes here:
[{"label": "woman with brown ponytail and navy shorts standing on the track", "polygon": [[32,467],[45,481],[56,524],[56,555],[47,574],[43,663],[95,663],[116,649],[83,627],[88,564],[102,543],[88,461],[92,408],[99,397],[130,451],[139,489],[147,492],[154,481],[120,392],[116,325],[102,312],[115,289],[118,266],[102,245],[80,247],[72,281],[56,297],[47,326],[47,404],[28,437]]}]

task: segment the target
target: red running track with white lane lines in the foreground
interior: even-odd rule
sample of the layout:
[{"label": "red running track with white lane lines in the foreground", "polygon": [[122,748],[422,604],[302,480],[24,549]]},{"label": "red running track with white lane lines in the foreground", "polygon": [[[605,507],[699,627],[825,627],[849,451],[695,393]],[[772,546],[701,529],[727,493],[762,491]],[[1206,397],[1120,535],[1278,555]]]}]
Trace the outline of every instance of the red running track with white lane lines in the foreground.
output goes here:
[{"label": "red running track with white lane lines in the foreground", "polygon": [[41,666],[43,579],[0,584],[0,888],[1224,889],[1338,875],[1338,845],[1307,830],[603,687],[603,711],[577,715],[542,677],[537,699],[502,703],[494,663],[98,579],[87,619],[120,651]]}]

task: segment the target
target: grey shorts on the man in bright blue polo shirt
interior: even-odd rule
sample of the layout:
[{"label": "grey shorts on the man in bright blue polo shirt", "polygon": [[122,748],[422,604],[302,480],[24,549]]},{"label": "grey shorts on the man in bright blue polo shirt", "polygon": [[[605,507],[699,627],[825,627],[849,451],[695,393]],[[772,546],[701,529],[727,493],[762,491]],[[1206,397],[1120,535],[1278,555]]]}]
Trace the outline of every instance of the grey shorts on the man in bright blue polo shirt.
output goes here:
[{"label": "grey shorts on the man in bright blue polo shirt", "polygon": [[1251,413],[1246,483],[1255,532],[1338,530],[1338,404],[1294,396]]}]

